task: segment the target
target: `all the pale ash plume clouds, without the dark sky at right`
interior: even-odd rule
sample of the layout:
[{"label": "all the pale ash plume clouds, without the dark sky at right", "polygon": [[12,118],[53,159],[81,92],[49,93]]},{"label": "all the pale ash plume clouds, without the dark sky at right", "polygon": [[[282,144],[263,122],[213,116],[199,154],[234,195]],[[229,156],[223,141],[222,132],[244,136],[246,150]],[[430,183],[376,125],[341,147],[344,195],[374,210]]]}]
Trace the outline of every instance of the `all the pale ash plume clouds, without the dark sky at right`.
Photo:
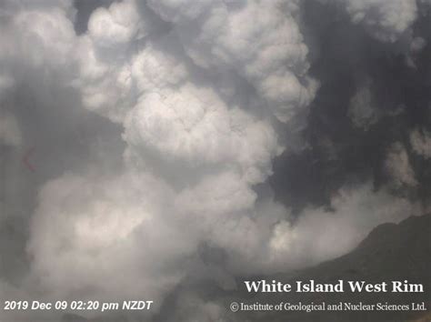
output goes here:
[{"label": "all the pale ash plume clouds, without the dark sky at right", "polygon": [[[71,143],[73,166],[65,161],[62,171],[40,178],[23,288],[50,299],[147,298],[156,311],[196,267],[203,278],[235,287],[233,276],[335,257],[373,226],[408,215],[406,199],[375,194],[367,183],[339,189],[333,212],[309,206],[296,220],[274,200],[266,182],[272,163],[286,146],[304,143],[299,132],[318,89],[301,5],[125,0],[97,7],[82,35],[67,2],[0,5],[0,93],[45,121],[22,134],[18,104],[8,107],[2,144],[29,144],[43,133],[66,154],[53,137],[84,116],[97,116],[89,131],[107,128],[110,139]],[[403,15],[395,15],[400,7]],[[416,6],[349,1],[346,12],[392,41],[409,28]],[[367,85],[352,99],[356,127],[377,122],[371,101]],[[427,156],[427,137],[414,132],[411,139]],[[119,165],[110,161],[119,155]],[[388,158],[394,174],[408,170],[404,154]],[[339,231],[346,236],[336,243]]]}]

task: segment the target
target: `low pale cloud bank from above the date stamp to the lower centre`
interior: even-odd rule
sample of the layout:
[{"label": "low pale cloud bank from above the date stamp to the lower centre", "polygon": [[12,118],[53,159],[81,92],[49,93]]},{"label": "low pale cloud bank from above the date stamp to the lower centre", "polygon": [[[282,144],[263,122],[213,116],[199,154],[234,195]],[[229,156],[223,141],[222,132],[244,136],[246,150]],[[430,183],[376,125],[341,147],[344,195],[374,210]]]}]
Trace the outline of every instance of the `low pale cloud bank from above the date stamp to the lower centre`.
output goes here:
[{"label": "low pale cloud bank from above the date stamp to the lower centre", "polygon": [[135,171],[49,182],[28,245],[35,283],[46,298],[145,297],[156,309],[203,242],[224,249],[237,272],[270,266],[266,247],[285,209],[255,206],[256,193],[235,174],[204,182],[180,194]]}]

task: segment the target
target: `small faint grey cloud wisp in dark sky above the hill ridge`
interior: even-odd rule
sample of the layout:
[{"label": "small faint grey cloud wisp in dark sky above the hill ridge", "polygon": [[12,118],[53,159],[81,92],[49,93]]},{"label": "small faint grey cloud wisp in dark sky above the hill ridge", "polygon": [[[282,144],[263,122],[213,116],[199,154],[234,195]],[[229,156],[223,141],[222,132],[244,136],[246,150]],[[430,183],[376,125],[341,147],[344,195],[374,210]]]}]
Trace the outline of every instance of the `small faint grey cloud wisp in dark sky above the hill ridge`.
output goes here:
[{"label": "small faint grey cloud wisp in dark sky above the hill ridge", "polygon": [[415,171],[410,165],[406,147],[396,142],[390,146],[386,155],[385,170],[394,186],[417,186]]}]

